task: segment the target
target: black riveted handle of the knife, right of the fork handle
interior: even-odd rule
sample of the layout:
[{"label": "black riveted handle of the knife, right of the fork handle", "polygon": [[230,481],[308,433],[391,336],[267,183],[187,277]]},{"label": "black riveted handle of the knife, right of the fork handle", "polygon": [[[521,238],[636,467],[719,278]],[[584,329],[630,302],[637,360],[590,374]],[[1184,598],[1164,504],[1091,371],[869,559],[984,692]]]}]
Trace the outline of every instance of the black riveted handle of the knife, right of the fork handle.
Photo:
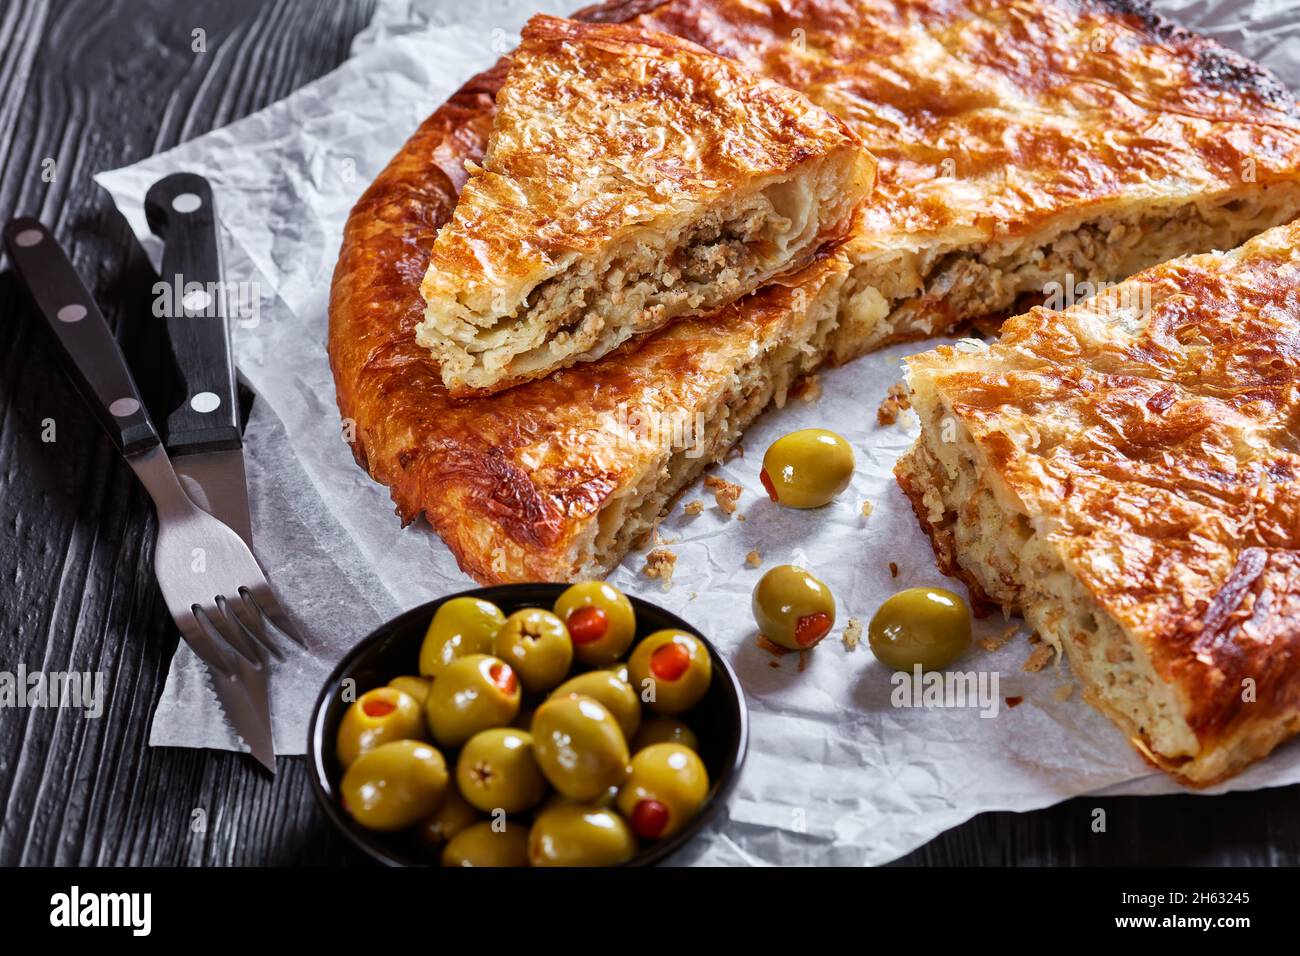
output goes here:
[{"label": "black riveted handle of the knife, right of the fork handle", "polygon": [[162,239],[156,291],[172,354],[185,382],[166,420],[166,447],[177,455],[238,449],[239,393],[221,281],[221,246],[212,186],[195,173],[173,173],[144,196],[150,229]]}]

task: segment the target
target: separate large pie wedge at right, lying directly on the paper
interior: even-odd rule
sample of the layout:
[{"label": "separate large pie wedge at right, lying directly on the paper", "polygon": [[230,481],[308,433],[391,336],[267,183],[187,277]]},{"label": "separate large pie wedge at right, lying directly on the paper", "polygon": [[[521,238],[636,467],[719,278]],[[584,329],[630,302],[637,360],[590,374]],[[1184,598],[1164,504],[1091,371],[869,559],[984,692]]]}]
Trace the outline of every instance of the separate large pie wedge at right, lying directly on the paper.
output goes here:
[{"label": "separate large pie wedge at right, lying directly on the paper", "polygon": [[1158,767],[1300,730],[1300,221],[907,362],[940,566],[1019,609]]}]

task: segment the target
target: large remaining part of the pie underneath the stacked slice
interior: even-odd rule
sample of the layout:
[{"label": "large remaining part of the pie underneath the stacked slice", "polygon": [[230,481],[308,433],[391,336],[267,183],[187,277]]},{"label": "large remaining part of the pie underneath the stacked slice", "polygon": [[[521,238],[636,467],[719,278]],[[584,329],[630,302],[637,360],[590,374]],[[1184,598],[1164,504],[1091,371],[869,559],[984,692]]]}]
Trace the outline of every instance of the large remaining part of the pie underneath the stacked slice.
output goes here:
[{"label": "large remaining part of the pie underneath the stacked slice", "polygon": [[482,581],[610,570],[827,359],[1300,213],[1291,98],[1127,0],[630,0],[577,17],[670,33],[803,92],[866,143],[878,181],[855,235],[801,273],[465,401],[416,342],[420,280],[486,151],[506,64],[424,122],[348,220],[330,359],[358,460]]}]

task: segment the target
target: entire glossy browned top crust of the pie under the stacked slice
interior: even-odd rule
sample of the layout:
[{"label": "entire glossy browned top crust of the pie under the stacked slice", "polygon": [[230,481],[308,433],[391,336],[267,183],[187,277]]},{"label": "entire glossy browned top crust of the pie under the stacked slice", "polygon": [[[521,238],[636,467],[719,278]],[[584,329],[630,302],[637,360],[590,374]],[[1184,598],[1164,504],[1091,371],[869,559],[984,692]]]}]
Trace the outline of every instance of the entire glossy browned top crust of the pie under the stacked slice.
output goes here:
[{"label": "entire glossy browned top crust of the pie under the stacked slice", "polygon": [[[716,402],[755,350],[780,347],[811,304],[848,289],[848,254],[863,243],[875,255],[935,234],[1026,234],[1188,190],[1258,195],[1294,183],[1300,169],[1300,122],[1266,75],[1131,8],[671,0],[577,18],[672,33],[801,90],[849,122],[880,174],[859,238],[793,286],[764,290],[723,319],[679,323],[640,350],[464,402],[447,395],[415,342],[419,287],[464,161],[482,157],[504,66],[421,125],[347,222],[330,362],[358,462],[390,486],[403,520],[424,514],[482,581],[559,580],[590,567],[581,551],[602,511],[663,466],[607,427],[619,403],[711,407],[702,403]],[[944,178],[949,159],[958,174]],[[833,334],[836,358],[870,341],[842,310]]]}]

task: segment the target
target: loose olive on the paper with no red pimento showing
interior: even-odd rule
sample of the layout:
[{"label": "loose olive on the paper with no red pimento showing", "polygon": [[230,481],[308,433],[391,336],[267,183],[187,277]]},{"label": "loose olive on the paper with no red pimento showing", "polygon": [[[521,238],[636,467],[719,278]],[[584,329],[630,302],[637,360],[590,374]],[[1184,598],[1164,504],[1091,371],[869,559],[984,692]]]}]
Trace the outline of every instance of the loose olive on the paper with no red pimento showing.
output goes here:
[{"label": "loose olive on the paper with no red pimento showing", "polygon": [[880,605],[867,628],[871,652],[894,670],[941,670],[971,643],[971,613],[961,594],[907,588]]}]

